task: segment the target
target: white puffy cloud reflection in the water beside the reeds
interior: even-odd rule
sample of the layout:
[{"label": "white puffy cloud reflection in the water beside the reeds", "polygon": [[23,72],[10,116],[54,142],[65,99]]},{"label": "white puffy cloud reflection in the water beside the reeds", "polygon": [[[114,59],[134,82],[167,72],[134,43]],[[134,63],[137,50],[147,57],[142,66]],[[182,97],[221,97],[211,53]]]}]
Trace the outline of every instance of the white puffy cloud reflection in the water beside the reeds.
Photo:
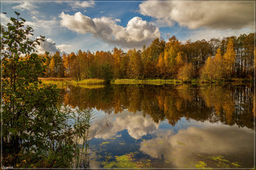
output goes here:
[{"label": "white puffy cloud reflection in the water beside the reeds", "polygon": [[[105,124],[108,122],[108,127]],[[90,127],[91,136],[101,139],[110,139],[116,136],[118,131],[127,129],[127,132],[134,139],[140,139],[143,135],[152,134],[159,125],[154,123],[151,117],[143,117],[143,114],[137,112],[134,113],[124,110],[118,115],[105,115],[104,117],[94,120],[94,123]],[[104,129],[102,131],[102,129]]]}]

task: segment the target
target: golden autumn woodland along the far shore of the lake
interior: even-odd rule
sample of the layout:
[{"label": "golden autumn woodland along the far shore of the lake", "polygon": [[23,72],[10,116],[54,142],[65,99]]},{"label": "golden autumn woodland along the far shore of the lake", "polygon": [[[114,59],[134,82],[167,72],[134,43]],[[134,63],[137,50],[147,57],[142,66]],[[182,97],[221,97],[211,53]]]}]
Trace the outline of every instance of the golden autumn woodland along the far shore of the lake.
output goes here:
[{"label": "golden autumn woodland along the far shore of the lake", "polygon": [[[45,53],[46,72],[42,77],[112,79],[179,79],[188,81],[252,78],[254,66],[254,34],[241,34],[223,39],[213,38],[186,43],[172,36],[168,42],[154,39],[143,50],[110,51],[79,50],[78,53],[53,55]],[[29,57],[29,56],[27,56]]]}]

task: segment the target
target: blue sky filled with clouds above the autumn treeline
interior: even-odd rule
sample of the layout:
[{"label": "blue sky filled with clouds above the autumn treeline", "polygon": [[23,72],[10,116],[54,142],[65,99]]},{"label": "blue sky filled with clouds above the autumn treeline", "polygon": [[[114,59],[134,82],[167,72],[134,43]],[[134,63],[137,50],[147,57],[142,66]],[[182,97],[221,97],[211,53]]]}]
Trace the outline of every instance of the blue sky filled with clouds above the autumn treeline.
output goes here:
[{"label": "blue sky filled with clouds above the autumn treeline", "polygon": [[165,42],[210,40],[249,34],[255,30],[255,1],[7,1],[2,2],[1,24],[15,11],[45,36],[38,53],[124,51]]}]

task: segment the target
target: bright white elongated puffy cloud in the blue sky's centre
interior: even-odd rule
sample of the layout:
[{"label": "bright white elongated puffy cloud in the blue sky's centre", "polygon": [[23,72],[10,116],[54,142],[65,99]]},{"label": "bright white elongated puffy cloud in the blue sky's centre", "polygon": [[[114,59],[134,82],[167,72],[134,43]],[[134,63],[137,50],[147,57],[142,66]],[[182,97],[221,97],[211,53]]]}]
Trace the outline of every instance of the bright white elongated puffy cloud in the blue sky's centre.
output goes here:
[{"label": "bright white elongated puffy cloud in the blue sky's centre", "polygon": [[61,26],[69,28],[79,34],[91,33],[95,37],[122,47],[142,47],[149,45],[155,38],[160,37],[159,28],[142,18],[129,20],[127,27],[118,26],[112,18],[89,18],[81,12],[68,15],[61,12]]}]

